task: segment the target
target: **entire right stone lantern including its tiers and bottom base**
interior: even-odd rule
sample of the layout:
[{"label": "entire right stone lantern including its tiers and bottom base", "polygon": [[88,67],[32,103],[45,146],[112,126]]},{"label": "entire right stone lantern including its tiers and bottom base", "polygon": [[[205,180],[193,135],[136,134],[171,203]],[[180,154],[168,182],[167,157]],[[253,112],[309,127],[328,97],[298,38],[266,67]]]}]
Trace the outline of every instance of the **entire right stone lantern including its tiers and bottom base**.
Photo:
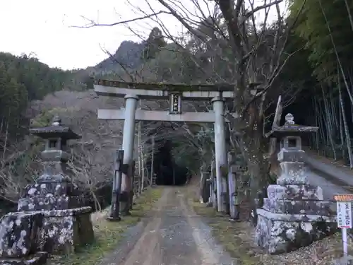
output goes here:
[{"label": "entire right stone lantern including its tiers and bottom base", "polygon": [[309,184],[301,150],[301,135],[316,132],[317,127],[294,124],[286,115],[284,126],[274,126],[268,134],[280,137],[281,175],[267,189],[263,208],[257,209],[256,244],[270,254],[289,252],[335,232],[335,217],[330,202],[323,201],[321,187]]}]

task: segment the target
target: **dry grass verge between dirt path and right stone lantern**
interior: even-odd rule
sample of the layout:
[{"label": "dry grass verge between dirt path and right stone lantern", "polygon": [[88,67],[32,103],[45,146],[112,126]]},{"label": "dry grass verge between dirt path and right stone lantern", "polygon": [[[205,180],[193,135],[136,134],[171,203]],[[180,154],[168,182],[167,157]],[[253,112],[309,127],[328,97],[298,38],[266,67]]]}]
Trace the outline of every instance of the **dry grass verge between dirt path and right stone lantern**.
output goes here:
[{"label": "dry grass verge between dirt path and right stone lantern", "polygon": [[[193,210],[205,216],[213,235],[239,265],[331,265],[333,259],[342,255],[340,233],[314,242],[309,247],[294,252],[270,255],[254,245],[254,229],[247,222],[229,222],[228,216],[217,213],[213,208],[189,199]],[[349,240],[349,254],[353,254],[353,243]]]}]

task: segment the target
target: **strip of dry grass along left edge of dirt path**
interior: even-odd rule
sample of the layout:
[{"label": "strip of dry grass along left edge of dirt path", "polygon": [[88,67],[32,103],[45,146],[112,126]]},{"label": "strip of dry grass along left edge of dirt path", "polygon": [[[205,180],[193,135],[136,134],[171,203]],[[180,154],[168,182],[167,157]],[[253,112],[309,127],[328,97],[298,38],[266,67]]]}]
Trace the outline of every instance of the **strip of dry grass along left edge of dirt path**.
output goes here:
[{"label": "strip of dry grass along left edge of dirt path", "polygon": [[52,257],[49,264],[55,265],[95,265],[102,258],[118,247],[119,242],[124,238],[124,232],[128,227],[136,225],[152,208],[152,205],[160,199],[162,189],[153,188],[146,190],[136,199],[131,216],[124,216],[120,222],[109,222],[106,220],[109,209],[92,213],[92,224],[95,231],[95,241],[91,245],[80,249],[75,254],[65,257]]}]

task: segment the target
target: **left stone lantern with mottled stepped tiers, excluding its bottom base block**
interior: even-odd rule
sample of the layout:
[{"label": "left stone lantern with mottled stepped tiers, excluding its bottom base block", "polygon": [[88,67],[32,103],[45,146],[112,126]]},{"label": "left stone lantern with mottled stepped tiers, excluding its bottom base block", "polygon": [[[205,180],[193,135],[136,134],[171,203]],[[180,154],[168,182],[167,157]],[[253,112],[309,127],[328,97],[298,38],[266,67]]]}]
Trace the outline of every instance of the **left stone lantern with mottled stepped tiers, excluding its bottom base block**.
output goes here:
[{"label": "left stone lantern with mottled stepped tiers, excluding its bottom base block", "polygon": [[54,117],[52,126],[30,129],[30,133],[45,140],[42,151],[43,173],[34,185],[25,188],[18,211],[64,210],[83,206],[83,194],[72,183],[67,170],[68,140],[80,139],[68,126]]}]

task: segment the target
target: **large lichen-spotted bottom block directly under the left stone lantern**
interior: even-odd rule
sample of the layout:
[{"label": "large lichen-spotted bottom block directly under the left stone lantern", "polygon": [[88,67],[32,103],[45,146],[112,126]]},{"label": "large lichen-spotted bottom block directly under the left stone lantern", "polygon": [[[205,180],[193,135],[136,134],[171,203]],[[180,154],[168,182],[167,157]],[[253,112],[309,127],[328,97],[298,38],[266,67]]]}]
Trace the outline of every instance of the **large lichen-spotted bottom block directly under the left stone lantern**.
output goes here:
[{"label": "large lichen-spotted bottom block directly under the left stone lantern", "polygon": [[90,207],[42,211],[42,248],[50,254],[69,254],[94,238]]}]

